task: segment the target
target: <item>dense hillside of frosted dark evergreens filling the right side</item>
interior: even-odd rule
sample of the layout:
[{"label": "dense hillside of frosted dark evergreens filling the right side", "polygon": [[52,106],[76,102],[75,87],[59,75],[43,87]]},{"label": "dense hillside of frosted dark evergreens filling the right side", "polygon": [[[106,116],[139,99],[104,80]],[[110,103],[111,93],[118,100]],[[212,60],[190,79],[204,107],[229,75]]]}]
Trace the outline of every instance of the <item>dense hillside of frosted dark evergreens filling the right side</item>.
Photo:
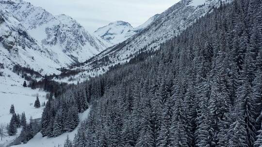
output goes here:
[{"label": "dense hillside of frosted dark evergreens filling the right side", "polygon": [[89,103],[65,147],[262,147],[262,1],[215,8],[160,51],[50,101],[42,119],[64,124],[66,106]]}]

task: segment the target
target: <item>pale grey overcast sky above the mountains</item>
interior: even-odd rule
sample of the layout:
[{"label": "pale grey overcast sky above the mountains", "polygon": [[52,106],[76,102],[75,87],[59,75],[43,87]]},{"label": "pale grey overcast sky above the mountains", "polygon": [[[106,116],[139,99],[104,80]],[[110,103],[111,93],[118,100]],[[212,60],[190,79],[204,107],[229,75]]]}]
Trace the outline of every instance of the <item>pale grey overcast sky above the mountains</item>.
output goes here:
[{"label": "pale grey overcast sky above the mountains", "polygon": [[133,27],[164,12],[179,0],[25,0],[45,8],[53,15],[66,14],[89,32],[110,22],[123,20]]}]

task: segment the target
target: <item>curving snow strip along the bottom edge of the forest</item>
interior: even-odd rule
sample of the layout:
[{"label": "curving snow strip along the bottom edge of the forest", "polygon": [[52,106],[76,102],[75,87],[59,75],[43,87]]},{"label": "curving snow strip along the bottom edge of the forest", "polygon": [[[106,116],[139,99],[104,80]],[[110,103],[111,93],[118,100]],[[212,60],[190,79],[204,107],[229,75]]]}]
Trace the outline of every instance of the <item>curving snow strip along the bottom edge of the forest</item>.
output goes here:
[{"label": "curving snow strip along the bottom edge of the forest", "polygon": [[[90,108],[87,109],[82,114],[79,114],[80,122],[88,117],[89,111]],[[73,132],[66,132],[54,138],[42,137],[42,134],[39,132],[27,144],[17,145],[12,147],[58,147],[58,145],[60,147],[63,147],[66,140],[66,136],[69,135],[69,138],[72,140],[78,128],[80,127],[80,124],[81,123],[79,123],[79,125]]]}]

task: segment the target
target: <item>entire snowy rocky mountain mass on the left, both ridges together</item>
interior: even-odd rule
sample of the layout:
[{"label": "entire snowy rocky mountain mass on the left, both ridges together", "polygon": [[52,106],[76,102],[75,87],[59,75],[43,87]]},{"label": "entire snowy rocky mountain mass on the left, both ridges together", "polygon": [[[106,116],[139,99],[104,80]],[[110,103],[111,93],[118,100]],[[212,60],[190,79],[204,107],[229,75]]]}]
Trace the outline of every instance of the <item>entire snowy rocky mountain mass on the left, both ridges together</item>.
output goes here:
[{"label": "entire snowy rocky mountain mass on the left, both ridges together", "polygon": [[54,16],[22,0],[0,0],[0,9],[3,63],[59,73],[56,68],[83,62],[107,47],[69,16]]}]

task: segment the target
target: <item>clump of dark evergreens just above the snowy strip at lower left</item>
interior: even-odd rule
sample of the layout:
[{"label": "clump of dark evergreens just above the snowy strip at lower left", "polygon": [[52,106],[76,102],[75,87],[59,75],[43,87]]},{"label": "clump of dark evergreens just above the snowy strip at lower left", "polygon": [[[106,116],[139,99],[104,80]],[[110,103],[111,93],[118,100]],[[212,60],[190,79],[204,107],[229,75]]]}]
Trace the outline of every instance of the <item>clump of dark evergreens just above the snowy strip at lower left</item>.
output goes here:
[{"label": "clump of dark evergreens just above the snowy strip at lower left", "polygon": [[42,114],[43,136],[56,137],[63,132],[73,131],[78,123],[78,113],[84,112],[89,107],[89,94],[83,88],[71,88],[60,97],[49,95]]}]

